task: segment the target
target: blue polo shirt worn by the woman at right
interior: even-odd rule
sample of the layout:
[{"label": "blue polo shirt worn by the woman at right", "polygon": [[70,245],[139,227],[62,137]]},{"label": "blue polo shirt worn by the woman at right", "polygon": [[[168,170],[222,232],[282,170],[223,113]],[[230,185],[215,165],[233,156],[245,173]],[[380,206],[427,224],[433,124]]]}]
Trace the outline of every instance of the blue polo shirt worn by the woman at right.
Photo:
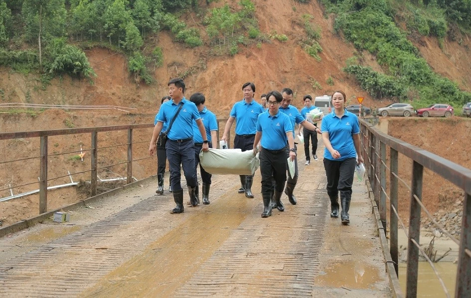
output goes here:
[{"label": "blue polo shirt worn by the woman at right", "polygon": [[324,149],[324,158],[330,160],[344,160],[356,157],[355,146],[353,145],[352,135],[360,133],[358,117],[355,114],[345,110],[342,118],[335,116],[335,111],[322,118],[320,126],[322,133],[329,133],[329,141],[332,148],[340,153],[340,157],[334,159],[327,148]]}]

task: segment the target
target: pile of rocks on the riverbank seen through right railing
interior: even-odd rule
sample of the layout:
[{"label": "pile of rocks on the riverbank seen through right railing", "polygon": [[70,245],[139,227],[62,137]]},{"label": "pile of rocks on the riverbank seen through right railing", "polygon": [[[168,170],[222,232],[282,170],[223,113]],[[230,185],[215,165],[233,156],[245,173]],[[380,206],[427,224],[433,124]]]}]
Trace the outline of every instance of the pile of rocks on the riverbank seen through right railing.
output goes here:
[{"label": "pile of rocks on the riverbank seen through right railing", "polygon": [[[455,203],[449,204],[448,208],[435,212],[433,216],[450,234],[460,240],[463,220],[463,199],[458,199]],[[447,237],[435,226],[428,216],[422,216],[421,226],[437,238]]]}]

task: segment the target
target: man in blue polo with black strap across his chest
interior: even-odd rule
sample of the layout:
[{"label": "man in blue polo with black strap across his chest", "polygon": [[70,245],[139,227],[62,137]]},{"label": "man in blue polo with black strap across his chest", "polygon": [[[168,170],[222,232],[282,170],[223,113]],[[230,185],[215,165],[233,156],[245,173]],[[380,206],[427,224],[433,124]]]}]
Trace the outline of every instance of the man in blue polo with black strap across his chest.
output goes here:
[{"label": "man in blue polo with black strap across his chest", "polygon": [[206,139],[206,131],[198,113],[195,104],[187,101],[184,97],[185,83],[182,79],[176,78],[168,82],[168,94],[172,98],[164,103],[157,114],[157,125],[154,128],[151,145],[149,146],[149,154],[154,155],[156,152],[156,141],[159,136],[163,123],[167,127],[176,115],[178,109],[180,112],[176,115],[175,120],[170,127],[168,133],[168,141],[165,144],[168,163],[170,165],[170,183],[173,190],[173,200],[176,207],[172,213],[183,212],[183,189],[180,184],[180,166],[183,167],[183,173],[188,186],[188,194],[192,205],[197,205],[198,197],[196,196],[198,181],[196,180],[196,171],[194,166],[194,144],[193,144],[193,120],[199,128],[201,136],[203,136],[203,151],[208,150],[208,140]]}]

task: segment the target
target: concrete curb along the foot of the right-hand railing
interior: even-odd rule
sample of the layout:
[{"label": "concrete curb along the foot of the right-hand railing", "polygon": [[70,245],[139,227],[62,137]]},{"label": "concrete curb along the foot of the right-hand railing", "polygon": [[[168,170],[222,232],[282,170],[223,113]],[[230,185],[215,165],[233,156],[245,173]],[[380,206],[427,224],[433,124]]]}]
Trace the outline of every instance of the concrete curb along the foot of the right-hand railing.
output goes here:
[{"label": "concrete curb along the foot of the right-hand railing", "polygon": [[389,276],[389,282],[391,284],[392,291],[394,296],[397,298],[403,298],[404,294],[402,293],[401,286],[399,284],[399,279],[396,274],[396,269],[394,268],[394,261],[391,258],[391,253],[389,252],[389,244],[386,238],[386,231],[383,228],[383,224],[381,223],[381,219],[379,217],[379,208],[376,205],[373,195],[373,189],[371,188],[369,179],[365,179],[366,188],[368,189],[368,198],[371,201],[372,213],[376,219],[376,229],[378,231],[379,242],[381,244],[381,248],[383,250],[383,256],[385,260],[385,269]]}]

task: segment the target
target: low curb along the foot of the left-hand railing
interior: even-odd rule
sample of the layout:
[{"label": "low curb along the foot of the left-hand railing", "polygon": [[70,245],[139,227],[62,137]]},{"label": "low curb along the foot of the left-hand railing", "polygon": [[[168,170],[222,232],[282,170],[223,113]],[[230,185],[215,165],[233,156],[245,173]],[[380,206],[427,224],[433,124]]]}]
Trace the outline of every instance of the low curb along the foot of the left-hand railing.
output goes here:
[{"label": "low curb along the foot of the left-hand railing", "polygon": [[135,182],[132,182],[132,183],[129,183],[129,184],[126,184],[126,185],[108,190],[106,192],[97,194],[97,195],[95,195],[93,197],[89,197],[85,200],[81,200],[81,201],[78,201],[76,203],[73,203],[73,204],[70,204],[70,205],[67,205],[67,206],[63,206],[63,207],[60,207],[58,209],[55,209],[55,210],[52,210],[52,211],[48,211],[48,212],[30,217],[28,219],[23,219],[21,221],[18,221],[16,223],[11,224],[9,226],[6,226],[4,228],[0,228],[0,237],[3,237],[5,235],[11,234],[11,233],[15,233],[15,232],[18,232],[18,231],[21,231],[21,230],[24,230],[24,229],[27,229],[27,228],[30,228],[30,227],[33,227],[37,223],[39,223],[39,222],[45,220],[46,218],[48,218],[49,216],[52,216],[55,212],[57,212],[59,210],[68,211],[68,210],[75,209],[77,207],[86,206],[88,203],[91,203],[91,202],[94,202],[94,201],[97,201],[99,199],[103,199],[103,198],[106,198],[106,197],[110,197],[110,196],[112,196],[112,195],[114,195],[114,194],[116,194],[120,191],[126,190],[128,188],[132,188],[132,187],[135,187],[135,186],[137,186],[141,183],[147,183],[147,182],[150,182],[150,181],[153,181],[153,180],[156,180],[156,179],[157,179],[157,175],[150,176],[148,178],[145,178],[145,179],[142,179],[142,180],[139,180],[139,181],[135,181]]}]

